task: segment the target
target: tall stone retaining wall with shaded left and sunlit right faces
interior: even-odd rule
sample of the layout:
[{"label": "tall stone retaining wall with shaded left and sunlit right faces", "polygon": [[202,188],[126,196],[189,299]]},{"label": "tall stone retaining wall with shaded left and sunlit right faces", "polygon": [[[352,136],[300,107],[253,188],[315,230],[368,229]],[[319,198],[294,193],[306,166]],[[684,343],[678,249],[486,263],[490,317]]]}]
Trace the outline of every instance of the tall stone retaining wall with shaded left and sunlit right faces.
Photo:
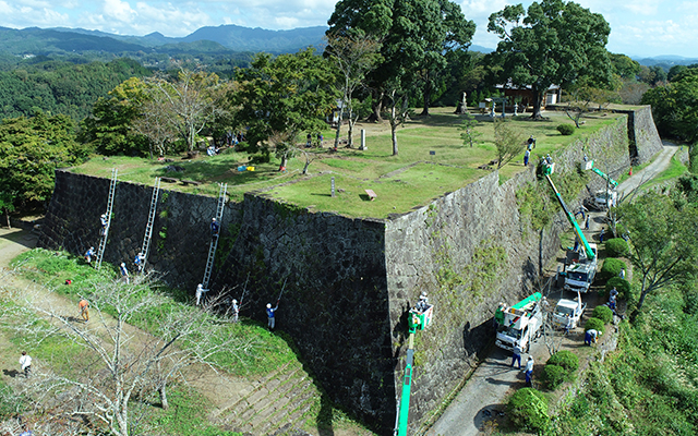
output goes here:
[{"label": "tall stone retaining wall with shaded left and sunlit right faces", "polygon": [[[621,117],[559,150],[554,159],[561,180],[578,170],[585,155],[614,178],[630,159],[649,159],[661,141],[653,124],[641,128],[651,122],[647,113],[635,114],[634,143]],[[589,192],[605,185],[595,174],[588,180]],[[277,328],[293,339],[327,395],[381,434],[392,433],[395,423],[407,311],[422,290],[429,292],[435,320],[416,338],[414,431],[492,343],[498,302],[531,292],[569,227],[562,214],[540,232],[521,220],[516,193],[530,183],[544,183],[533,167],[502,184],[494,171],[387,219],[309,213],[246,194],[226,206],[225,262],[217,264],[212,289],[241,295],[248,282],[242,314],[262,323],[264,305],[276,304],[284,289]],[[108,187],[109,180],[58,171],[40,245],[76,254],[96,246]],[[119,183],[106,262],[132,259],[140,250],[151,193],[149,186]],[[582,190],[569,206],[579,207],[586,195]],[[193,293],[204,274],[215,209],[212,197],[169,192],[164,198],[149,261],[168,283]]]}]

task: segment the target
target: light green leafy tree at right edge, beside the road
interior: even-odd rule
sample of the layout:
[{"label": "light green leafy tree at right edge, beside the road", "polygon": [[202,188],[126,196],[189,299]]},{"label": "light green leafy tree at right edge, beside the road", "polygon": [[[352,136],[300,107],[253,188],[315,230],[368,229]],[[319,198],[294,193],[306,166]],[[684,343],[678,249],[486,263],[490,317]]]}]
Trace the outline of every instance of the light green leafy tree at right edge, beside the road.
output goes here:
[{"label": "light green leafy tree at right edge, beside the road", "polygon": [[670,197],[648,192],[618,207],[618,217],[630,237],[629,258],[641,283],[633,320],[649,293],[698,272],[698,208],[678,209]]}]

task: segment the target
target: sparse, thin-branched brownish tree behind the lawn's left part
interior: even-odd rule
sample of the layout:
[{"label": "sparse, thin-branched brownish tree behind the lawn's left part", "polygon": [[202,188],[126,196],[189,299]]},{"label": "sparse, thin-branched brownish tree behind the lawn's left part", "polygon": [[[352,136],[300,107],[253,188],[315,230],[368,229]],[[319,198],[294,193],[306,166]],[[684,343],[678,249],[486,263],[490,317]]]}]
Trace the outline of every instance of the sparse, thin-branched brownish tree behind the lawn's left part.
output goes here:
[{"label": "sparse, thin-branched brownish tree behind the lawn's left part", "polygon": [[193,150],[196,135],[219,111],[214,98],[219,85],[218,75],[180,69],[176,81],[148,77],[145,83],[148,97],[158,104],[151,109],[161,110],[158,117],[169,120],[186,148]]}]

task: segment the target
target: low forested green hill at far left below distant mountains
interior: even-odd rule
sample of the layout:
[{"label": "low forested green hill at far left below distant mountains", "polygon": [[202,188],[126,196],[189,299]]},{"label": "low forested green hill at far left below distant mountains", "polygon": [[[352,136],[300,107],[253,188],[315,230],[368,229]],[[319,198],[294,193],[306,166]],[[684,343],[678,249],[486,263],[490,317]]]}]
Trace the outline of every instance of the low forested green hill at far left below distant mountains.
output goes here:
[{"label": "low forested green hill at far left below distant mountains", "polygon": [[0,71],[0,118],[28,117],[40,109],[80,121],[92,112],[97,98],[121,82],[149,74],[131,59],[85,64],[48,61]]}]

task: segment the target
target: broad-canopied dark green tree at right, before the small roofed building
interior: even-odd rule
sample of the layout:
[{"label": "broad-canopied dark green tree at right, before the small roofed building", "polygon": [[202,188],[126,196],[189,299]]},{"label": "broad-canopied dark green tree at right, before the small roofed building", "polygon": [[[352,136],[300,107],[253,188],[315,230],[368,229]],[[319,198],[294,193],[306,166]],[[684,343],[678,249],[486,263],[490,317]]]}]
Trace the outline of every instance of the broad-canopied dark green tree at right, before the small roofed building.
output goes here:
[{"label": "broad-canopied dark green tree at right, before the small roofed building", "polygon": [[603,15],[575,2],[543,0],[524,9],[507,5],[490,15],[488,31],[502,40],[490,57],[501,66],[500,83],[533,92],[532,118],[541,118],[545,92],[553,85],[588,76],[595,83],[611,81],[605,45],[611,27]]}]

